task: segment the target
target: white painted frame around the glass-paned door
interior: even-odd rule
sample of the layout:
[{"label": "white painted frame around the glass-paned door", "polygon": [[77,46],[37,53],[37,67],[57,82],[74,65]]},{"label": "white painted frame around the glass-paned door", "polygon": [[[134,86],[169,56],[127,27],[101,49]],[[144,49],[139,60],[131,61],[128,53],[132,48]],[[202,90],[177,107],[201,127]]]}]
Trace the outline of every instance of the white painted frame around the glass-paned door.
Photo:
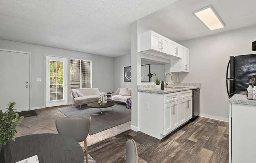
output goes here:
[{"label": "white painted frame around the glass-paned door", "polygon": [[[66,59],[66,103],[64,103],[64,105],[68,104],[68,100],[69,100],[69,62],[68,62],[68,58],[67,57],[62,57],[62,56],[56,56],[56,55],[48,55],[48,54],[44,54],[44,107],[46,107],[46,96],[47,96],[47,92],[46,92],[46,57],[56,57],[56,58],[63,58]],[[63,72],[64,73],[64,72]]]}]

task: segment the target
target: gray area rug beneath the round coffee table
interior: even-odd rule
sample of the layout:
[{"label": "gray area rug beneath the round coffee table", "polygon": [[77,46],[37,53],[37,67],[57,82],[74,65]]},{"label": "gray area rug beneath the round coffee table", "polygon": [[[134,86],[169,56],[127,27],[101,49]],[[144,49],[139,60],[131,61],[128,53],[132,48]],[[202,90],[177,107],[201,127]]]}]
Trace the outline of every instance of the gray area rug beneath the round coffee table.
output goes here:
[{"label": "gray area rug beneath the round coffee table", "polygon": [[[71,118],[81,118],[91,116],[91,114],[101,113],[97,108],[90,108],[87,105],[82,105],[81,107],[82,109],[80,109],[79,106],[75,106],[59,108],[58,110],[60,110],[60,112],[62,112],[65,116]],[[112,107],[103,108],[101,110],[103,113],[113,114],[92,115],[89,132],[90,135],[131,121],[131,110],[125,108],[125,103],[115,103],[113,110]]]}]

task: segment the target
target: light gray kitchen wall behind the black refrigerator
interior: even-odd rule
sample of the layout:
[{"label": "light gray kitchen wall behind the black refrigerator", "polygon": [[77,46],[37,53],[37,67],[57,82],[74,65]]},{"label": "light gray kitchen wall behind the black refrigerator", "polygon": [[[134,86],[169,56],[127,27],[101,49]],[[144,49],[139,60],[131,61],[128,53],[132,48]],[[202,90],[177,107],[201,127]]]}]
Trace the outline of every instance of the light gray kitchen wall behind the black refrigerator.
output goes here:
[{"label": "light gray kitchen wall behind the black refrigerator", "polygon": [[200,82],[200,112],[228,118],[226,69],[229,56],[255,53],[256,26],[180,42],[190,49],[190,72],[179,74],[180,82]]}]

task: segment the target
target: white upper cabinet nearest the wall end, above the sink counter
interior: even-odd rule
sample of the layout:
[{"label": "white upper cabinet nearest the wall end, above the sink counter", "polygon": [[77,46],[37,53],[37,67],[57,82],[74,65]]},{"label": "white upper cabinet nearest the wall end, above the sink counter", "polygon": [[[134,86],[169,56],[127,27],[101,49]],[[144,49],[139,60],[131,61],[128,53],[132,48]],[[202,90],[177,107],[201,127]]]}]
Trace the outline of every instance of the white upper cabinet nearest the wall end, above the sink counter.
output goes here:
[{"label": "white upper cabinet nearest the wall end, above the sink counter", "polygon": [[155,33],[154,31],[147,31],[139,34],[139,52],[154,56],[159,56],[166,59],[180,58],[175,54],[169,53],[168,38]]}]

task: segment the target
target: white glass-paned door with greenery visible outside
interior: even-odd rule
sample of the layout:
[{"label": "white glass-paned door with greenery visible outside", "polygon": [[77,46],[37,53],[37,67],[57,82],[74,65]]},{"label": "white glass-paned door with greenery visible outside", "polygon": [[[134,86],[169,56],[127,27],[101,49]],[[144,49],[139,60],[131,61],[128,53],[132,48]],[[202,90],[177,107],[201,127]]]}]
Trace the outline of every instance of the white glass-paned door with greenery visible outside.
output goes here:
[{"label": "white glass-paned door with greenery visible outside", "polygon": [[67,105],[67,59],[46,56],[46,107]]}]

